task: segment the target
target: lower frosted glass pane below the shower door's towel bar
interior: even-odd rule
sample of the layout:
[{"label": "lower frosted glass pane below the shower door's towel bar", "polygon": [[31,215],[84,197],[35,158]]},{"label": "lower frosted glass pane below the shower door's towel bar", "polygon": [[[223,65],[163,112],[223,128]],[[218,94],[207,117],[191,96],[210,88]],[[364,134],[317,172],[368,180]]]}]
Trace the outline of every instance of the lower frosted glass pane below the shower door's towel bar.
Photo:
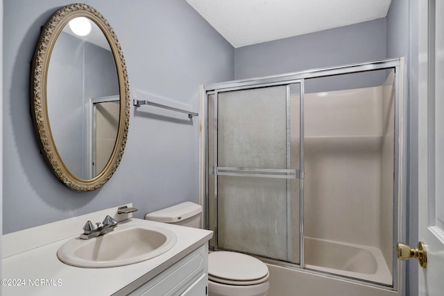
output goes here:
[{"label": "lower frosted glass pane below the shower door's towel bar", "polygon": [[219,176],[218,188],[219,247],[287,260],[287,180]]}]

